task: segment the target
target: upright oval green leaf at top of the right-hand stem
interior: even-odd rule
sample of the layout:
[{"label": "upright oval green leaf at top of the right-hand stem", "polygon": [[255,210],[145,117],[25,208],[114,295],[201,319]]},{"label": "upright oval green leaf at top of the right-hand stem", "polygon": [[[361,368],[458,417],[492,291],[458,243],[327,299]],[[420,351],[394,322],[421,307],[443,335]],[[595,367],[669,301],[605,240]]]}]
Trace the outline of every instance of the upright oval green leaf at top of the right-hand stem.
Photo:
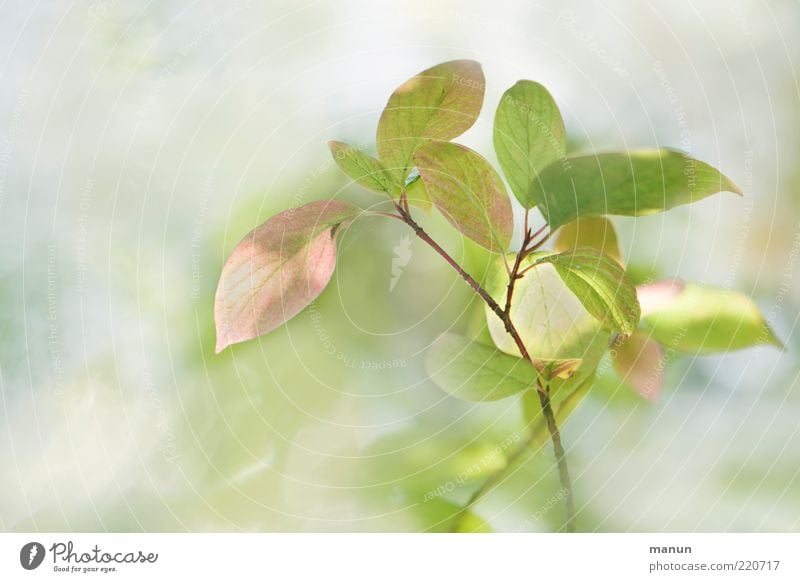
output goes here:
[{"label": "upright oval green leaf at top of the right-hand stem", "polygon": [[494,115],[494,149],[517,200],[533,207],[534,178],[567,152],[564,120],[547,89],[518,81],[503,94]]}]

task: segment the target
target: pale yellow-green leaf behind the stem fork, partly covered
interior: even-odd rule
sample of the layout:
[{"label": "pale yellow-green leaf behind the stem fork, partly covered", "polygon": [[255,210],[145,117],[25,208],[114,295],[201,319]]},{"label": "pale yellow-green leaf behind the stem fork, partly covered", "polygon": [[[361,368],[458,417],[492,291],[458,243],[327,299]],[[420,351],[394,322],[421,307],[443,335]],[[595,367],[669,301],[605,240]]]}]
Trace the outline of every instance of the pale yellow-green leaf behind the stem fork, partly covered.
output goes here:
[{"label": "pale yellow-green leaf behind the stem fork, partly covered", "polygon": [[[596,365],[608,348],[611,332],[587,311],[552,264],[539,262],[549,254],[536,253],[524,259],[523,267],[531,268],[515,285],[510,316],[537,367],[545,375],[569,376]],[[514,255],[508,255],[507,260],[513,262]],[[507,285],[505,263],[497,257],[490,265],[485,289],[502,306]],[[520,357],[517,344],[500,318],[488,306],[484,311],[494,344],[505,353]]]}]

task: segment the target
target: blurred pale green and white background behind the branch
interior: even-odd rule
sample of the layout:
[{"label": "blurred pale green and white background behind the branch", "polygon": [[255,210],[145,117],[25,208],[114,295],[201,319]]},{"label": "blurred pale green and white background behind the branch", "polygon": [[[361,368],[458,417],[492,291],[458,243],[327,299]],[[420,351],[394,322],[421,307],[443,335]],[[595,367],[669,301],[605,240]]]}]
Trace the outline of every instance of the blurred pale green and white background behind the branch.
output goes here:
[{"label": "blurred pale green and white background behind the branch", "polygon": [[[678,147],[747,193],[614,219],[633,272],[742,290],[787,349],[675,357],[655,403],[605,366],[563,426],[580,528],[800,530],[796,0],[0,4],[0,530],[446,527],[524,424],[427,379],[427,346],[481,317],[435,254],[360,220],[285,329],[214,355],[212,313],[260,221],[379,202],[325,140],[369,149],[392,89],[454,58],[484,66],[458,141],[490,159],[530,78],[575,151]],[[558,489],[533,451],[476,527],[553,530]]]}]

